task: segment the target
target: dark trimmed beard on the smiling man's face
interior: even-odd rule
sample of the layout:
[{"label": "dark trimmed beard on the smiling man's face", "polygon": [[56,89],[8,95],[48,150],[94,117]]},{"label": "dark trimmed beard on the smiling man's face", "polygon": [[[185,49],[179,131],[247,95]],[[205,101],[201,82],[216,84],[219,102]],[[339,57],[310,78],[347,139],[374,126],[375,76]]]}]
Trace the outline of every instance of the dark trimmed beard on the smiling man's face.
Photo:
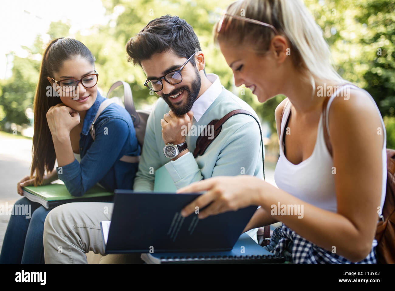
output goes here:
[{"label": "dark trimmed beard on the smiling man's face", "polygon": [[[197,68],[195,68],[195,72],[196,72],[196,78],[191,84],[191,89],[189,89],[188,86],[182,86],[177,89],[174,89],[173,91],[170,92],[170,94],[166,94],[166,95],[163,94],[162,95],[162,98],[164,99],[164,101],[166,101],[167,105],[169,105],[169,108],[171,109],[171,111],[173,111],[178,116],[182,116],[185,113],[189,112],[191,110],[192,106],[194,105],[196,98],[199,95],[200,86],[201,86],[201,79],[200,79],[199,71]],[[184,93],[187,93],[186,103],[182,106],[181,105],[174,106],[173,103],[170,101],[170,98],[171,98],[170,95],[175,95],[181,90],[184,90]]]}]

